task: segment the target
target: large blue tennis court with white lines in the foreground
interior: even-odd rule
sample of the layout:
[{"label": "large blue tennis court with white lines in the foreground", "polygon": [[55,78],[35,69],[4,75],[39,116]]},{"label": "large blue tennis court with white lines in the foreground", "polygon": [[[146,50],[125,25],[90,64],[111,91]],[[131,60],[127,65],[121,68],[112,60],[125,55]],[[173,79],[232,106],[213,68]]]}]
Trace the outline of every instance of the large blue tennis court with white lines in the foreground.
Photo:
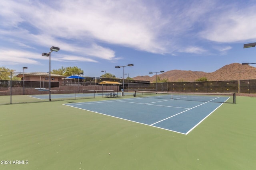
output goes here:
[{"label": "large blue tennis court with white lines in the foreground", "polygon": [[[222,97],[223,102],[228,97]],[[188,134],[223,103],[128,98],[64,104],[177,133]]]}]

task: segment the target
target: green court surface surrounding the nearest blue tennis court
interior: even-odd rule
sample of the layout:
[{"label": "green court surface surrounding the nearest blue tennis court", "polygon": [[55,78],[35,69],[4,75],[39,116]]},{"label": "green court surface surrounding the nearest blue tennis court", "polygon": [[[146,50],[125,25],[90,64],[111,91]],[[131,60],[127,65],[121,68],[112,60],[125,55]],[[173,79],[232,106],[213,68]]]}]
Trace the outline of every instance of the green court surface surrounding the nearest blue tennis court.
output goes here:
[{"label": "green court surface surrounding the nearest blue tennis court", "polygon": [[256,98],[237,96],[237,104],[223,104],[188,135],[62,105],[98,100],[112,99],[0,105],[0,169],[256,167]]}]

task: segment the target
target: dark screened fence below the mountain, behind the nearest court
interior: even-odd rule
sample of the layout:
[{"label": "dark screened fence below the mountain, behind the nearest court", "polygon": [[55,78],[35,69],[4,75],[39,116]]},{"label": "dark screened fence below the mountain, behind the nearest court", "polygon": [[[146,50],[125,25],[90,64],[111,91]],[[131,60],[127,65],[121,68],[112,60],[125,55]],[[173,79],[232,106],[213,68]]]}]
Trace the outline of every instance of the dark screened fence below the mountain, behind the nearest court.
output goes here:
[{"label": "dark screened fence below the mountain, behind the nearest court", "polygon": [[[157,88],[157,90],[156,90]],[[151,90],[158,92],[203,92],[203,93],[256,93],[256,80],[129,83],[125,90]]]}]

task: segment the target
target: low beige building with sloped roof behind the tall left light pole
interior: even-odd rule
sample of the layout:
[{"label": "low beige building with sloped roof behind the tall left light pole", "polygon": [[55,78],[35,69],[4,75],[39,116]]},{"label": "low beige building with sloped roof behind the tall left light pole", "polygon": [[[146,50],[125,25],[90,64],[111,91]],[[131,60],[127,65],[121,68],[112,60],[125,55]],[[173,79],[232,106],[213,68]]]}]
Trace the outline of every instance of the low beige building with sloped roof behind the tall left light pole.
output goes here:
[{"label": "low beige building with sloped roof behind the tall left light pole", "polygon": [[[18,74],[16,77],[20,77],[23,80],[23,73]],[[58,74],[51,74],[51,82],[62,82],[62,78],[66,76],[61,76]],[[49,81],[49,73],[48,72],[30,72],[24,73],[25,81],[41,81],[48,82]]]}]

